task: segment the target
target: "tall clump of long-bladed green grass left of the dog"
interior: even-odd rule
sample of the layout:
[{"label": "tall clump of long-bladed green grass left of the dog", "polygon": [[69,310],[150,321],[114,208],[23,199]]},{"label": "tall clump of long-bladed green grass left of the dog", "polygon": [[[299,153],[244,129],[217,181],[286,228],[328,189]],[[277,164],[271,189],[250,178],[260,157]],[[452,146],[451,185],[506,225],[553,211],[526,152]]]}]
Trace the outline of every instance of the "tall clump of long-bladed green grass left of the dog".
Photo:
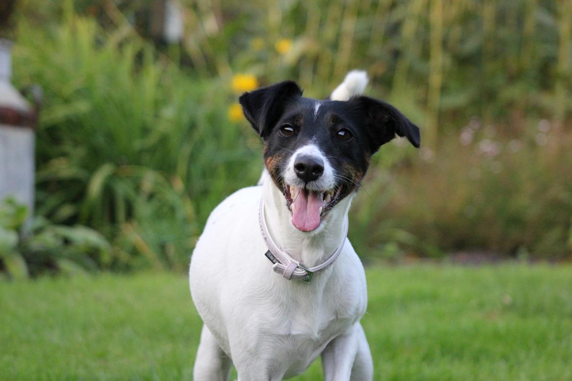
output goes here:
[{"label": "tall clump of long-bladed green grass left of the dog", "polygon": [[22,20],[14,67],[45,90],[37,211],[104,232],[113,267],[182,270],[212,207],[260,174],[259,145],[228,121],[229,85],[182,72],[129,27],[69,9],[47,28]]}]

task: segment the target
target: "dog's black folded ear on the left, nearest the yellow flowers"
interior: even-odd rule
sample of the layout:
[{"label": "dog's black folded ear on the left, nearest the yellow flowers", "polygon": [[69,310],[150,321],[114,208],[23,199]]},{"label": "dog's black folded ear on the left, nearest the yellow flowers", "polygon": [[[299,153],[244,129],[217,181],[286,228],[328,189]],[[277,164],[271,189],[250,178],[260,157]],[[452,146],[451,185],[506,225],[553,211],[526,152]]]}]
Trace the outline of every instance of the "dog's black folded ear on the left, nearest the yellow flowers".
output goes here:
[{"label": "dog's black folded ear on the left, nearest the yellow flowers", "polygon": [[263,87],[240,96],[244,116],[253,129],[266,139],[272,127],[284,113],[289,102],[301,97],[302,90],[293,81],[284,81],[276,85]]}]

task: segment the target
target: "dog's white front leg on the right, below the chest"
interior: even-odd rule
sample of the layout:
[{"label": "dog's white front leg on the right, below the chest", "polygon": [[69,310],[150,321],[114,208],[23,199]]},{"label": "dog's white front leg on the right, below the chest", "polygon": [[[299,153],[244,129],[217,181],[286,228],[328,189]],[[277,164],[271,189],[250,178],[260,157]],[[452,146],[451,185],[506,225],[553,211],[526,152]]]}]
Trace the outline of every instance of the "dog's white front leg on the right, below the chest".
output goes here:
[{"label": "dog's white front leg on the right, below the chest", "polygon": [[362,324],[337,336],[321,354],[326,381],[371,381],[374,366]]}]

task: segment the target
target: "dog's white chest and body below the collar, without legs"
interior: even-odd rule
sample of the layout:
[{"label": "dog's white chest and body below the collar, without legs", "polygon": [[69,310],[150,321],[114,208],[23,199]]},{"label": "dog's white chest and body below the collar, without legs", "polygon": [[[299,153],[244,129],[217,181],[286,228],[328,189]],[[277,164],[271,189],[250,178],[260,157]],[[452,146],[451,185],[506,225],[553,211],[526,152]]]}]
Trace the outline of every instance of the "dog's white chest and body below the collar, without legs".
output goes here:
[{"label": "dog's white chest and body below the collar, without legs", "polygon": [[311,283],[273,272],[258,225],[260,194],[241,190],[213,211],[193,253],[191,292],[235,365],[256,360],[272,374],[300,374],[364,314],[365,275],[349,242]]}]

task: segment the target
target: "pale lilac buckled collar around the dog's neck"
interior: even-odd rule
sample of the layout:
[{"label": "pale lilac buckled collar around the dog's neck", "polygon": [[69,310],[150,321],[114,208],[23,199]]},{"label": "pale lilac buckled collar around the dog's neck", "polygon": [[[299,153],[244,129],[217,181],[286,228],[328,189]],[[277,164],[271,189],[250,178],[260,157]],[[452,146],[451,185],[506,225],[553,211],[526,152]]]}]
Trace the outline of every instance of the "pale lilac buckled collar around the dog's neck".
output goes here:
[{"label": "pale lilac buckled collar around the dog's neck", "polygon": [[272,269],[284,276],[284,278],[291,280],[301,280],[302,282],[310,283],[312,276],[316,272],[320,272],[328,268],[334,260],[340,255],[341,250],[344,248],[345,240],[348,235],[348,216],[345,216],[344,224],[344,240],[341,242],[340,246],[333,252],[333,254],[325,260],[324,263],[319,264],[314,267],[306,267],[301,264],[296,259],[292,258],[287,251],[283,248],[276,246],[272,237],[268,233],[268,228],[266,225],[266,218],[264,216],[264,200],[260,198],[260,206],[258,210],[258,222],[260,225],[260,232],[264,238],[264,242],[268,247],[268,251],[264,255],[272,262]]}]

